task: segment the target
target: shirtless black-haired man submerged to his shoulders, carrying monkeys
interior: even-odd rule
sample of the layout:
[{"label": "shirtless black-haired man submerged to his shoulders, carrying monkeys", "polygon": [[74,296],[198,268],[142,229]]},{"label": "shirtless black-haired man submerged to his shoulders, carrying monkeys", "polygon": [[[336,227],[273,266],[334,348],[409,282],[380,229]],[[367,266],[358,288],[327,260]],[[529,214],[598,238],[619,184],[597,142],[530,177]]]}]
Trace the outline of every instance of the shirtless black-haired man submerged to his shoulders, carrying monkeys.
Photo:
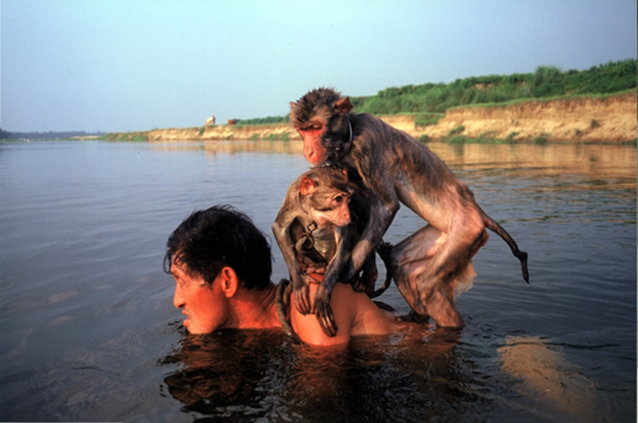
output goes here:
[{"label": "shirtless black-haired man submerged to his shoulders, carrying monkeys", "polygon": [[[168,239],[164,271],[177,283],[173,304],[187,316],[184,327],[191,334],[282,327],[269,244],[247,215],[228,205],[196,211],[181,222]],[[316,289],[310,284],[310,298]],[[346,344],[353,335],[390,334],[408,326],[349,284],[335,285],[330,305],[339,328],[335,337],[323,333],[314,315],[286,310],[303,342]]]}]

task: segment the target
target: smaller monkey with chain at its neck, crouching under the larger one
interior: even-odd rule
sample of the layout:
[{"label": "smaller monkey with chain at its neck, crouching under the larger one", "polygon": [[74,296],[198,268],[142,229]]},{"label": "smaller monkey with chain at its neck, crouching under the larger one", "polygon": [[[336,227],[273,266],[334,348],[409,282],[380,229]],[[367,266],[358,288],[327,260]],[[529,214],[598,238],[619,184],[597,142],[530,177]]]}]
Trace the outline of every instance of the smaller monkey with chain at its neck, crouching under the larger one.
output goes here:
[{"label": "smaller monkey with chain at its neck, crouching under the larger one", "polygon": [[[330,337],[337,333],[330,308],[335,282],[352,283],[356,291],[374,291],[377,276],[374,255],[363,264],[360,277],[359,272],[348,278],[340,273],[357,244],[359,230],[365,226],[368,208],[364,203],[364,197],[348,181],[345,171],[315,168],[291,184],[272,224],[290,271],[296,307],[306,310],[304,314],[313,312]],[[308,283],[313,282],[320,283],[320,288],[310,304]]]}]

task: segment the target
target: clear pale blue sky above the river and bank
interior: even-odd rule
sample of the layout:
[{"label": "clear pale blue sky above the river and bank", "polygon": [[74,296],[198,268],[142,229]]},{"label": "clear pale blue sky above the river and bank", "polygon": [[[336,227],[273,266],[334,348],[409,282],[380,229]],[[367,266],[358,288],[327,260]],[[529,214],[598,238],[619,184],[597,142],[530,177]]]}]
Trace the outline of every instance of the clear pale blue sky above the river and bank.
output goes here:
[{"label": "clear pale blue sky above the river and bank", "polygon": [[0,0],[0,128],[125,132],[286,115],[329,86],[635,58],[635,0]]}]

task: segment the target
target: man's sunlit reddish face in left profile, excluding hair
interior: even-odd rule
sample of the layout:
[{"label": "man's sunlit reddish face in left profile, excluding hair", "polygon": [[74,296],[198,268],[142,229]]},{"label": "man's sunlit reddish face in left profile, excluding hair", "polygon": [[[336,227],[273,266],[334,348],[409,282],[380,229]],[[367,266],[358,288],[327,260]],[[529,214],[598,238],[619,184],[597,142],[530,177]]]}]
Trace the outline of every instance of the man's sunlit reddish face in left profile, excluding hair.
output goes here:
[{"label": "man's sunlit reddish face in left profile, excluding hair", "polygon": [[228,301],[216,279],[209,286],[200,275],[189,275],[185,265],[171,264],[175,278],[173,305],[188,316],[184,327],[191,334],[208,334],[224,327],[228,320]]}]

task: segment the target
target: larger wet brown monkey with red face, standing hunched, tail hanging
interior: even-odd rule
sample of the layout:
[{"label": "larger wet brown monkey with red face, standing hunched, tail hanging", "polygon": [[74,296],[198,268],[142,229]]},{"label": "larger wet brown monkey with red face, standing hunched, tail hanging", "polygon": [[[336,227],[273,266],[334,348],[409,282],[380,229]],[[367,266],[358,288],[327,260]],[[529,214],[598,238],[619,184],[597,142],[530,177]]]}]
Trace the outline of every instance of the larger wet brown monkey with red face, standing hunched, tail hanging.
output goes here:
[{"label": "larger wet brown monkey with red face, standing hunched, tail hanging", "polygon": [[[486,227],[508,242],[529,283],[527,253],[521,252],[508,233],[481,210],[474,193],[436,154],[372,115],[351,113],[352,108],[348,97],[325,88],[310,91],[291,103],[290,120],[303,137],[308,162],[315,166],[338,165],[358,174],[371,201],[369,220],[352,251],[352,259],[342,262],[345,271],[335,270],[326,279],[338,274],[349,278],[361,269],[403,203],[427,220],[429,225],[424,230],[431,231],[432,239],[436,239],[422,247],[410,244],[410,248],[417,249],[415,257],[427,256],[427,266],[418,278],[406,282],[413,291],[410,305],[416,312],[427,315],[429,306],[442,302],[453,305],[449,286],[486,244]],[[334,281],[328,279],[325,283]],[[297,304],[297,308],[308,312],[303,304]]]}]

